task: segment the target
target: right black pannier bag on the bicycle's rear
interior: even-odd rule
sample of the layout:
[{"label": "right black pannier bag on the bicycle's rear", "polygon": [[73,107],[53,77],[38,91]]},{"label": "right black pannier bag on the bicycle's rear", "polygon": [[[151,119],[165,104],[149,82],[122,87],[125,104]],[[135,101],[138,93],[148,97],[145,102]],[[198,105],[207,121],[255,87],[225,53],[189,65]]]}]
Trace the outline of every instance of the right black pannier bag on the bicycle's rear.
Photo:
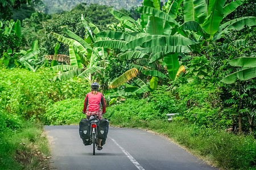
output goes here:
[{"label": "right black pannier bag on the bicycle's rear", "polygon": [[109,121],[104,118],[98,122],[98,138],[102,139],[101,145],[104,145],[109,132]]}]

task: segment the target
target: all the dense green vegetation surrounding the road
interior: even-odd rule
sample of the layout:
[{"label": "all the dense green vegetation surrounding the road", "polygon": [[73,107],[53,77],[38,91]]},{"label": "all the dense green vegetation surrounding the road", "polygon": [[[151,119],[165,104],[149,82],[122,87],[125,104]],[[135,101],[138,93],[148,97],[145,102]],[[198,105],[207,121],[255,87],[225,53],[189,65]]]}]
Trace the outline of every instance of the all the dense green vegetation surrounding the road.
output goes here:
[{"label": "all the dense green vegetation surrounding the road", "polygon": [[113,126],[255,169],[255,2],[124,2],[129,11],[79,3],[46,14],[42,1],[0,1],[0,169],[49,168],[43,125],[77,124],[95,81]]}]

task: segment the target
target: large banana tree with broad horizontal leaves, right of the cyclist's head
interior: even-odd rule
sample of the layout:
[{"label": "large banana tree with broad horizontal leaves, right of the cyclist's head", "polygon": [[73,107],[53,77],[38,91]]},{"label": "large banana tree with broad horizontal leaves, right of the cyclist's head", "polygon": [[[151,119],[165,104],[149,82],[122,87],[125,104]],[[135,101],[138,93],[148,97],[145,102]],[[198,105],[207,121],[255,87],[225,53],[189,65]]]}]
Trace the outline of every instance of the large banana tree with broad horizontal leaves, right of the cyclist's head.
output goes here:
[{"label": "large banana tree with broad horizontal leaves, right of the cyclist's head", "polygon": [[[168,11],[168,13],[160,11],[159,1],[144,1],[143,5],[144,6],[137,8],[137,11],[142,14],[141,19],[138,21],[131,20],[125,16],[125,14],[120,14],[120,12],[118,12],[117,16],[117,12],[114,13],[113,10],[111,10],[111,13],[115,18],[122,22],[129,21],[130,32],[100,32],[97,36],[108,37],[108,39],[98,41],[94,43],[94,45],[104,46],[105,48],[110,49],[120,49],[122,54],[120,54],[119,57],[125,59],[143,58],[146,62],[144,62],[144,65],[142,66],[146,66],[147,63],[162,62],[162,59],[165,57],[166,64],[174,65],[174,67],[168,67],[168,72],[174,73],[170,74],[170,78],[174,79],[180,65],[178,58],[172,58],[172,56],[170,57],[170,54],[191,52],[192,50],[189,45],[196,43],[186,37],[174,36],[172,35],[172,31],[170,31],[170,28],[177,29],[177,25],[179,24],[168,14],[170,11],[174,14],[178,5],[176,5],[176,8],[174,7],[175,5],[172,5],[172,10]],[[138,23],[140,24],[140,27],[137,27]],[[135,28],[131,28],[133,24],[136,28],[142,29],[136,29],[136,31],[133,31],[135,30]],[[141,69],[139,71],[143,70],[142,67],[139,68]],[[150,72],[144,70],[142,73],[147,73],[146,75],[149,75],[148,73],[156,73],[156,71],[158,70],[152,70]],[[159,75],[160,74],[158,74],[158,76]],[[160,76],[160,78],[163,77],[164,76]]]}]

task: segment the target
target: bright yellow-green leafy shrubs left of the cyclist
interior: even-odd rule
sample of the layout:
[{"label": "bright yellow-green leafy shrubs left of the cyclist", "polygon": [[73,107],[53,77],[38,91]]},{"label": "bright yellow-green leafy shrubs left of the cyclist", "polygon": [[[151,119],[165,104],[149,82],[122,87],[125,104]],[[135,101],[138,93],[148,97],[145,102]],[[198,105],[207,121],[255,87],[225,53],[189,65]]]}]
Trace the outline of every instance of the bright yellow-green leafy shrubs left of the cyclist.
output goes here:
[{"label": "bright yellow-green leafy shrubs left of the cyclist", "polygon": [[24,118],[38,119],[56,101],[83,98],[89,92],[84,79],[51,81],[55,73],[46,69],[33,73],[26,69],[0,70],[0,108]]}]

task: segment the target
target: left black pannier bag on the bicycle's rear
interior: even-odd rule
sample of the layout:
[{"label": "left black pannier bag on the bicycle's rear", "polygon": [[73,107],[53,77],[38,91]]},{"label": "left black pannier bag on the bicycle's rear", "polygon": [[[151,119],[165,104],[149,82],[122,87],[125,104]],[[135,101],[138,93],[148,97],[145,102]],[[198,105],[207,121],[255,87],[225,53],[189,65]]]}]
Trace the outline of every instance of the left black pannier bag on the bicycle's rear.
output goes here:
[{"label": "left black pannier bag on the bicycle's rear", "polygon": [[79,122],[79,134],[84,145],[90,145],[90,123],[86,118]]}]

